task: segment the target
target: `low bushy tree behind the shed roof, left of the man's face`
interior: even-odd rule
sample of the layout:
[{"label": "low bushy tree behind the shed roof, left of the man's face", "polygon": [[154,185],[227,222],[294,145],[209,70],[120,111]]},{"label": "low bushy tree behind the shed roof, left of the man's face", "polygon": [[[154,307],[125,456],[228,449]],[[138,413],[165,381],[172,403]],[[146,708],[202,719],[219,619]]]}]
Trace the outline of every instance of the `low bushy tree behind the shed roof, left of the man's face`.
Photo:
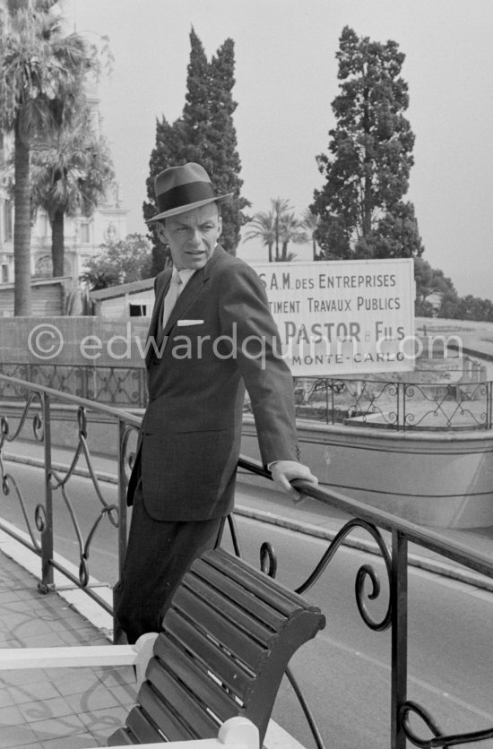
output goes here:
[{"label": "low bushy tree behind the shed roof, left of the man's face", "polygon": [[142,234],[129,234],[118,242],[100,245],[100,250],[86,263],[87,270],[81,275],[91,291],[152,278],[151,244]]}]

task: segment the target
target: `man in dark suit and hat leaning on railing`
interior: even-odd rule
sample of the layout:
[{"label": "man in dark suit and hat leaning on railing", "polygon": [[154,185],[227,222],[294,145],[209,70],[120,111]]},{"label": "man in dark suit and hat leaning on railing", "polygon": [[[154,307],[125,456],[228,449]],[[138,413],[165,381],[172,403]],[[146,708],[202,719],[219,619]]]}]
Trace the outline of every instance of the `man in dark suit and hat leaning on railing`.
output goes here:
[{"label": "man in dark suit and hat leaning on railing", "polygon": [[155,280],[146,366],[149,405],[128,487],[125,570],[115,590],[129,642],[156,631],[187,567],[232,511],[245,387],[264,465],[294,498],[299,462],[290,370],[262,282],[217,244],[221,202],[198,164],[156,177],[152,221],[173,269]]}]

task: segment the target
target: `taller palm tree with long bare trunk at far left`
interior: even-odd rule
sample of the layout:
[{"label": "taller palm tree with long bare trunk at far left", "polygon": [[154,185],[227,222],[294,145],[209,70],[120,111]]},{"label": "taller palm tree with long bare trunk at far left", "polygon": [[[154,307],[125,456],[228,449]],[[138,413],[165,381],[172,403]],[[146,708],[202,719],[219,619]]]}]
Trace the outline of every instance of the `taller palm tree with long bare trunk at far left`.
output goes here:
[{"label": "taller palm tree with long bare trunk at far left", "polygon": [[30,314],[30,151],[40,134],[65,121],[65,108],[97,69],[94,47],[62,35],[56,0],[11,10],[0,60],[0,126],[14,135],[14,314]]}]

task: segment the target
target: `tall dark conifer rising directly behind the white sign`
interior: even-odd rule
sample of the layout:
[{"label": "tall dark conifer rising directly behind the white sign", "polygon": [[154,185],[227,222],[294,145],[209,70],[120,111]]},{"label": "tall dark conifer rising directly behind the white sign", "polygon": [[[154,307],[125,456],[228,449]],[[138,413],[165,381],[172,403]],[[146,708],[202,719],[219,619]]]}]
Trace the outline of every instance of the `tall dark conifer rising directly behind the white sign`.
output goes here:
[{"label": "tall dark conifer rising directly behind the white sign", "polygon": [[403,202],[413,164],[414,135],[403,116],[408,85],[404,55],[385,44],[342,30],[333,100],[336,126],[329,154],[316,157],[326,178],[311,211],[324,257],[415,257],[423,252],[411,202]]}]

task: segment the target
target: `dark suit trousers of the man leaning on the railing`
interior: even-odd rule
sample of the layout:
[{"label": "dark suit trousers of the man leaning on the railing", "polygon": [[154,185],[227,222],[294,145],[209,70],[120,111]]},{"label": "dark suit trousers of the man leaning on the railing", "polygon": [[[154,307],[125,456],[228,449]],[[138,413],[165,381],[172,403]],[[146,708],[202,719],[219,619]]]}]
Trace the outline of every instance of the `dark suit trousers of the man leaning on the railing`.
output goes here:
[{"label": "dark suit trousers of the man leaning on the railing", "polygon": [[138,481],[124,573],[113,591],[116,624],[130,644],[143,633],[160,631],[183,575],[198,556],[219,543],[222,524],[223,518],[154,520],[145,509]]}]

